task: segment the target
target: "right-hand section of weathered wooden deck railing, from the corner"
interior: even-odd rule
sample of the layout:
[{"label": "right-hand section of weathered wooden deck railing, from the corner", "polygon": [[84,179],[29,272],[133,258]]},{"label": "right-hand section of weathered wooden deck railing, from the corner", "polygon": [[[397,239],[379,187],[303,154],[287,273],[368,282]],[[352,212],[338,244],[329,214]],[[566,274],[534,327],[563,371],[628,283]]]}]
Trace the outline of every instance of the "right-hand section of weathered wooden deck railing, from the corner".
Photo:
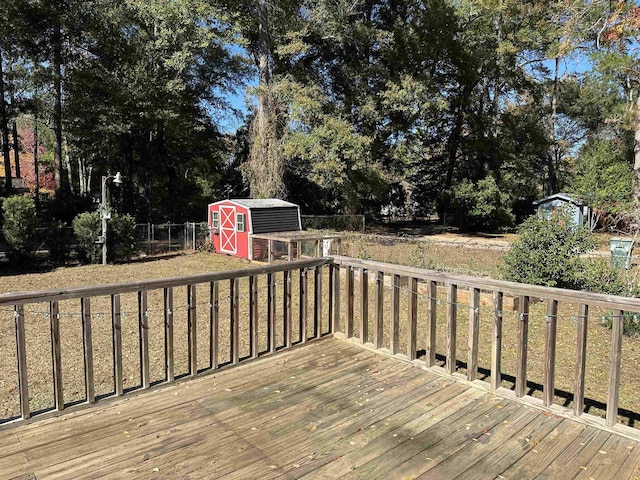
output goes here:
[{"label": "right-hand section of weathered wooden deck railing, from the corner", "polygon": [[[535,355],[538,357],[537,360],[543,361],[541,401],[546,407],[562,407],[556,402],[556,396],[559,393],[556,389],[556,372],[558,369],[563,369],[566,376],[567,370],[573,370],[573,388],[571,392],[567,392],[573,394],[573,408],[571,410],[562,408],[562,410],[574,416],[585,415],[585,374],[587,357],[590,355],[587,348],[588,320],[590,315],[592,319],[596,318],[596,314],[592,314],[592,311],[597,312],[600,319],[609,321],[611,324],[606,368],[608,375],[606,376],[604,423],[609,427],[618,423],[623,323],[625,318],[637,321],[639,315],[636,312],[640,312],[640,299],[467,277],[349,257],[335,257],[334,263],[335,278],[332,295],[334,332],[344,332],[348,338],[369,343],[376,349],[386,349],[391,354],[397,354],[412,361],[417,356],[416,339],[420,333],[425,342],[421,346],[424,349],[424,358],[420,362],[423,361],[427,367],[437,365],[436,334],[444,333],[444,359],[442,360],[444,373],[453,375],[458,369],[463,368],[466,362],[466,379],[477,382],[479,381],[478,354],[482,344],[479,332],[482,321],[484,327],[489,327],[491,338],[490,366],[488,365],[487,373],[490,375],[490,382],[487,388],[497,390],[502,386],[504,372],[503,353],[506,344],[503,336],[503,320],[506,314],[513,313],[517,316],[517,332],[514,332],[515,338],[508,338],[508,344],[514,345],[516,351],[515,396],[525,397],[531,387],[528,384],[528,367]],[[354,291],[356,283],[359,284],[359,288]],[[341,288],[344,289],[345,297],[342,309],[340,308]],[[369,299],[370,290],[374,294],[373,302]],[[389,291],[386,295],[389,306],[386,309],[385,291]],[[465,297],[464,301],[459,299],[461,294]],[[482,302],[481,294],[485,299]],[[507,297],[511,302],[509,311],[504,305]],[[404,304],[402,312],[406,315],[406,322],[402,324],[401,298]],[[418,312],[418,298],[424,304],[421,312]],[[546,304],[544,311],[537,314],[537,319],[542,317],[544,321],[543,350],[534,352],[529,346],[533,300],[536,303],[545,302]],[[359,304],[357,309],[354,301]],[[564,313],[559,314],[559,306]],[[464,309],[467,311],[464,312]],[[541,310],[542,306],[536,305],[536,309]],[[572,310],[570,315],[566,314],[567,309]],[[369,319],[370,310],[373,314],[371,320]],[[385,315],[387,312],[388,317]],[[357,322],[354,321],[356,317],[358,317]],[[560,365],[556,361],[558,322],[566,322],[568,317],[575,324],[575,361],[571,365]],[[541,323],[536,322],[536,326]],[[461,324],[465,324],[468,332],[460,331]],[[369,325],[372,326],[373,332],[369,332]],[[418,325],[425,331],[419,332]],[[606,335],[609,334],[604,328],[597,334],[602,336],[603,332],[606,332]],[[461,333],[466,334],[468,341],[466,352],[462,355],[460,355],[457,341]],[[486,340],[487,335],[484,338]],[[404,353],[401,352],[401,343],[406,348]],[[631,368],[634,367],[631,366]],[[562,403],[568,403],[568,400],[570,399],[565,397]],[[596,423],[602,423],[601,419],[592,415],[588,417]]]}]

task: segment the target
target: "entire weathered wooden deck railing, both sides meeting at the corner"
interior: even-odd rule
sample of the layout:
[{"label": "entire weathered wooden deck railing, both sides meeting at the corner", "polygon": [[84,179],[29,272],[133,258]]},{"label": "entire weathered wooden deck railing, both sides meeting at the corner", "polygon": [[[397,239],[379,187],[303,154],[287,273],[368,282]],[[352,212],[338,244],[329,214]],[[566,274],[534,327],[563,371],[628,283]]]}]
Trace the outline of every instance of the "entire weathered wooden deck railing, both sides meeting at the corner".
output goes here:
[{"label": "entire weathered wooden deck railing, both sides meeting at the corner", "polygon": [[[472,382],[490,377],[490,390],[503,389],[512,373],[513,395],[525,399],[535,390],[535,364],[537,401],[574,416],[586,415],[585,391],[593,386],[587,382],[589,342],[604,342],[607,358],[599,371],[606,375],[595,385],[604,393],[595,403],[606,415],[593,420],[612,427],[618,423],[622,367],[634,368],[622,363],[624,319],[634,312],[640,312],[639,299],[340,256],[4,294],[0,418],[55,414],[344,332],[447,375],[465,371]],[[573,350],[557,351],[558,326],[566,332],[569,318],[575,341],[561,338],[562,348],[575,345],[575,356]],[[598,318],[611,330],[591,332],[589,319],[593,324]],[[8,341],[13,333],[15,343]],[[14,389],[8,387],[13,378]]]}]

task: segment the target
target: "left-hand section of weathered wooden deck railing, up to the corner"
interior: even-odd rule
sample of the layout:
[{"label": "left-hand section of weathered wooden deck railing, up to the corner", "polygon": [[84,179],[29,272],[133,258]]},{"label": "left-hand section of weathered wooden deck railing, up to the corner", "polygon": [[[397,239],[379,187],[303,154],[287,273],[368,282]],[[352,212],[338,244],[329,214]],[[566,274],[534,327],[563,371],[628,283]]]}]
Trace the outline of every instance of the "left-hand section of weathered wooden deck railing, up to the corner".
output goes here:
[{"label": "left-hand section of weathered wooden deck railing, up to the corner", "polygon": [[[326,300],[322,280],[328,276],[323,272],[329,264],[330,259],[315,258],[178,278],[0,295],[5,339],[11,337],[10,331],[15,328],[15,350],[0,348],[0,351],[5,361],[9,358],[9,363],[15,352],[18,406],[18,411],[12,411],[6,407],[12,404],[12,399],[0,399],[5,406],[0,418],[25,420],[33,415],[60,412],[72,404],[91,404],[102,397],[173,382],[179,376],[215,371],[320,337],[330,331],[329,315],[332,315],[331,309],[323,312]],[[182,299],[178,298],[178,291]],[[328,297],[328,290],[324,293]],[[199,300],[201,296],[204,301]],[[94,308],[98,304],[100,307]],[[309,308],[312,313],[308,322]],[[43,340],[45,328],[50,330],[50,337]],[[179,328],[186,330],[181,342],[175,338]],[[101,336],[96,335],[96,329]],[[28,335],[27,330],[33,335]],[[125,335],[129,338],[123,347]],[[158,335],[164,338],[159,339]],[[107,336],[111,345],[105,347]],[[150,346],[150,336],[159,341]],[[6,340],[2,343],[7,344]],[[108,351],[101,355],[102,363],[112,364],[112,375],[100,364],[99,379],[94,352],[97,344]],[[48,362],[43,352],[49,349],[51,369],[46,375],[47,369],[41,367]],[[221,358],[223,349],[225,357]],[[29,355],[28,351],[34,354]],[[67,362],[63,361],[64,353]],[[176,357],[184,358],[185,353],[186,371],[179,372]],[[80,363],[74,355],[82,357],[83,381],[76,379],[74,383],[75,387],[84,384],[84,398],[65,395],[73,390],[65,378],[73,376]],[[150,368],[152,356],[156,360],[161,358],[163,363],[162,373],[156,372],[155,377]],[[127,361],[134,365],[127,365]],[[125,370],[131,373],[135,369],[139,375],[125,374]],[[5,386],[0,395],[5,397],[15,390],[10,388],[12,375],[6,370],[3,368],[4,375],[0,372],[0,383]],[[136,376],[139,383],[131,386],[130,380]],[[108,384],[110,390],[105,387]],[[102,390],[107,388],[106,392],[97,392],[97,385]],[[52,401],[41,399],[34,403],[33,390],[44,393],[44,397],[52,393]]]}]

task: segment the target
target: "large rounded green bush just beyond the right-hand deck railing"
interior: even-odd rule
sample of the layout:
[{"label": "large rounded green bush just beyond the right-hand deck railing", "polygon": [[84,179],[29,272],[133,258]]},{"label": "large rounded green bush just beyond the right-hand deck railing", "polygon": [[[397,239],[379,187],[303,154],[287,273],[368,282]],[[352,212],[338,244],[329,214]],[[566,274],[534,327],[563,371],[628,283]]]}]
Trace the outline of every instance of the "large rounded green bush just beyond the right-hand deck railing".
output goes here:
[{"label": "large rounded green bush just beyond the right-hand deck railing", "polygon": [[520,283],[580,289],[582,281],[589,283],[581,280],[585,261],[580,255],[596,245],[591,232],[575,227],[567,212],[556,211],[549,219],[531,216],[520,227],[520,239],[504,257],[505,277]]}]

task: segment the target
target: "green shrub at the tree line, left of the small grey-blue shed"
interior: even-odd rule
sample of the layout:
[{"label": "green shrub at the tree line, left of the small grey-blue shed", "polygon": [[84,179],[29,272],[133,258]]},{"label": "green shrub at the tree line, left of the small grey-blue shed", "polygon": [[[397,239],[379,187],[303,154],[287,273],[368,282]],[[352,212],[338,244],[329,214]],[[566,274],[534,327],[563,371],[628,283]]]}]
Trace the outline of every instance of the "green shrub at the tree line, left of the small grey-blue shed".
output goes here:
[{"label": "green shrub at the tree line, left of the small grey-blue shed", "polygon": [[500,191],[492,176],[477,183],[465,180],[448,192],[450,211],[461,218],[469,230],[496,231],[514,224],[509,196]]}]

